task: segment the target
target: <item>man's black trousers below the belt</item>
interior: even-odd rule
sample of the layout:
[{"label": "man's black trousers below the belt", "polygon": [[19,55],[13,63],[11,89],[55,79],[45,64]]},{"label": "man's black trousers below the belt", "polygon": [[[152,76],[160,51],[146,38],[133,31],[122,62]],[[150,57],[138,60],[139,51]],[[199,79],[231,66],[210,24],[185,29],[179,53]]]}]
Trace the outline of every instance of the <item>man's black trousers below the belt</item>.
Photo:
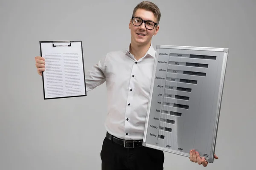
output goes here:
[{"label": "man's black trousers below the belt", "polygon": [[107,138],[100,157],[102,170],[163,170],[163,151],[149,147],[127,148]]}]

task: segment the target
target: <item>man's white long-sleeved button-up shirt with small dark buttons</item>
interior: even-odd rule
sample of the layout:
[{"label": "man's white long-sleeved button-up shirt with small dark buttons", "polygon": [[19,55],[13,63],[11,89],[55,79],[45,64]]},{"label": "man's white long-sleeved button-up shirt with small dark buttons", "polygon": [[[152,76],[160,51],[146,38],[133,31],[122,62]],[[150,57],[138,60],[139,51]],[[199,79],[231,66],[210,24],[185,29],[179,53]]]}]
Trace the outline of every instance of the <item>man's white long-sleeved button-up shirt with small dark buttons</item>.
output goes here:
[{"label": "man's white long-sleeved button-up shirt with small dark buttons", "polygon": [[106,130],[121,139],[143,139],[155,50],[150,46],[138,61],[129,48],[108,53],[87,71],[87,91],[106,81]]}]

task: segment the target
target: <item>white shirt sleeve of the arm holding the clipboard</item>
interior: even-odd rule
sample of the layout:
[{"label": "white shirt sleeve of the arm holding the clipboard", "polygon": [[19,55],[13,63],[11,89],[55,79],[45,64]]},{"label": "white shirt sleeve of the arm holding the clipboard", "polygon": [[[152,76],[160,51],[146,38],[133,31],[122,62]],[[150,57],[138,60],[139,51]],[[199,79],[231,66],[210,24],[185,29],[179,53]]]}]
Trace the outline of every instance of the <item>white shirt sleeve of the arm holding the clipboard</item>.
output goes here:
[{"label": "white shirt sleeve of the arm holding the clipboard", "polygon": [[90,68],[85,74],[86,91],[91,91],[106,81],[105,60],[103,57],[99,62]]}]

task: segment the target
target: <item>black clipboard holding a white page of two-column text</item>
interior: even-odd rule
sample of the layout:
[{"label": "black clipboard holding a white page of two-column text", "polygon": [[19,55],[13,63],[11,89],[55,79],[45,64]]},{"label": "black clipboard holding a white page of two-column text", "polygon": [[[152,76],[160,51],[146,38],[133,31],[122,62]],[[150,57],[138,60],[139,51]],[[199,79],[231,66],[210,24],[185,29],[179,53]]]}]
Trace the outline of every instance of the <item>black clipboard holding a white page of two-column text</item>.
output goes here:
[{"label": "black clipboard holding a white page of two-column text", "polygon": [[44,99],[87,96],[82,41],[39,41]]}]

